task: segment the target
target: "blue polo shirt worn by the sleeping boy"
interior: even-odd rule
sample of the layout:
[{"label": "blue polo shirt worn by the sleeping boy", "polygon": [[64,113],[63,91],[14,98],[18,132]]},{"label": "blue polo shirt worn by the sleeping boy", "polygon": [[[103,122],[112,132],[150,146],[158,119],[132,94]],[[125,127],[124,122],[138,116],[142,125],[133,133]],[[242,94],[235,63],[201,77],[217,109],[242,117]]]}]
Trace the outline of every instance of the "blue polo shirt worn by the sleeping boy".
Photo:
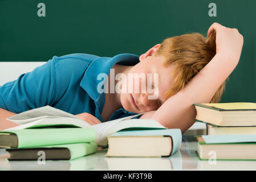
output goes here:
[{"label": "blue polo shirt worn by the sleeping boy", "polygon": [[[71,114],[90,113],[104,122],[105,93],[97,92],[100,73],[109,75],[115,64],[135,65],[139,56],[121,53],[99,57],[86,53],[54,56],[32,72],[0,86],[0,107],[13,113],[50,105]],[[109,120],[134,115],[120,108]]]}]

